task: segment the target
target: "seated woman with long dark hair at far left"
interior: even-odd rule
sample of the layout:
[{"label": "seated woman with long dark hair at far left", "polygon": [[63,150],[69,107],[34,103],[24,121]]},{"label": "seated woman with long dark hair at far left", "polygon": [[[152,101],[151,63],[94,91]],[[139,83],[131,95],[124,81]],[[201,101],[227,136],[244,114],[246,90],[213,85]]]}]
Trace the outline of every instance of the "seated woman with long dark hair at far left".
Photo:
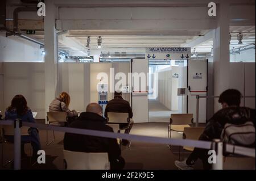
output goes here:
[{"label": "seated woman with long dark hair at far left", "polygon": [[[13,100],[11,100],[11,106],[6,109],[5,112],[5,120],[15,120],[21,119],[24,122],[35,123],[34,117],[30,108],[27,107],[27,100],[24,98],[23,95],[15,95]],[[38,150],[41,149],[40,145],[40,138],[38,129],[36,128],[29,128],[28,133],[30,136],[22,136],[22,142],[30,142],[33,148],[33,158],[38,157]],[[6,136],[7,140],[13,142],[13,136]],[[26,153],[24,151],[24,144],[21,145],[21,156],[26,157]]]}]

